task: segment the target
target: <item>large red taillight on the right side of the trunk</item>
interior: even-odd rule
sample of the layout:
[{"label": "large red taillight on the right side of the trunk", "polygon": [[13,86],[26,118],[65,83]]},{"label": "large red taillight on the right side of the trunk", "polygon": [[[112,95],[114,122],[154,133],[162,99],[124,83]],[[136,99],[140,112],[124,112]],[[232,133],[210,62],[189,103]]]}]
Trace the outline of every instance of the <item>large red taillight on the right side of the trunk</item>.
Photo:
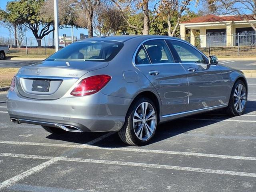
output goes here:
[{"label": "large red taillight on the right side of the trunk", "polygon": [[74,96],[91,95],[101,90],[111,77],[108,75],[96,75],[83,79],[70,93]]}]

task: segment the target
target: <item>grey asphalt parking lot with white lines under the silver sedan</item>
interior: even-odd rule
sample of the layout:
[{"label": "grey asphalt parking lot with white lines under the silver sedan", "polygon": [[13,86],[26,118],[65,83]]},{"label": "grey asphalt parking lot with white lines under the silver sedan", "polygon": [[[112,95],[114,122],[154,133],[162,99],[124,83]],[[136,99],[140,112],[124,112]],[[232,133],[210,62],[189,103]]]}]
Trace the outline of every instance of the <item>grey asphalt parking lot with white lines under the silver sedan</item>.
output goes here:
[{"label": "grey asphalt parking lot with white lines under the silver sedan", "polygon": [[9,121],[0,94],[1,192],[255,192],[256,79],[245,114],[222,110],[160,124],[150,144],[116,133],[55,136]]}]

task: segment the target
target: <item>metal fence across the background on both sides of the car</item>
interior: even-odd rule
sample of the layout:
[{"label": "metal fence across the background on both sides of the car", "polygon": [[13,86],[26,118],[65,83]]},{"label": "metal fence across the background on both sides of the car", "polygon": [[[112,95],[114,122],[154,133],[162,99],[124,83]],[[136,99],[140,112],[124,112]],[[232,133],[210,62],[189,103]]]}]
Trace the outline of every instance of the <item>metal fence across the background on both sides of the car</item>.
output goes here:
[{"label": "metal fence across the background on both sides of the car", "polygon": [[[180,38],[180,37],[179,37]],[[182,39],[190,42],[206,55],[216,55],[220,57],[231,56],[256,56],[256,34],[233,36],[227,35],[200,35],[186,36]],[[74,39],[76,41],[78,39]],[[61,38],[59,48],[68,46],[72,40]],[[8,56],[50,56],[55,52],[55,43],[52,38],[24,38],[22,41],[13,38],[0,37],[0,46],[8,46],[10,54]]]}]

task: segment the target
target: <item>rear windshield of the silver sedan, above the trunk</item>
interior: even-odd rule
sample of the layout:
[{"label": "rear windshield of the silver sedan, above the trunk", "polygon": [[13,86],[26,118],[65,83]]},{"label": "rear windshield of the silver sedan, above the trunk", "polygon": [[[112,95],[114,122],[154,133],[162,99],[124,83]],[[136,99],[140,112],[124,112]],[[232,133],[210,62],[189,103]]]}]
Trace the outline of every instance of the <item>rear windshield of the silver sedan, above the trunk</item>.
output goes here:
[{"label": "rear windshield of the silver sedan, above the trunk", "polygon": [[62,48],[47,60],[110,61],[124,46],[114,41],[81,41]]}]

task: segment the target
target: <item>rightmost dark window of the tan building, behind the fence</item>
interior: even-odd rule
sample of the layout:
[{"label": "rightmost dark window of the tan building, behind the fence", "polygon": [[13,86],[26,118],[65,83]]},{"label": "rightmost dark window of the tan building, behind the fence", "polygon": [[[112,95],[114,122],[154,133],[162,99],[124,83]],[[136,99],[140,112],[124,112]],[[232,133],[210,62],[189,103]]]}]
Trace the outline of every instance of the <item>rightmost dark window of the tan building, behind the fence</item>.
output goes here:
[{"label": "rightmost dark window of the tan building, behind the fence", "polygon": [[238,46],[238,44],[239,46],[255,45],[255,30],[252,27],[236,28],[236,46]]}]

